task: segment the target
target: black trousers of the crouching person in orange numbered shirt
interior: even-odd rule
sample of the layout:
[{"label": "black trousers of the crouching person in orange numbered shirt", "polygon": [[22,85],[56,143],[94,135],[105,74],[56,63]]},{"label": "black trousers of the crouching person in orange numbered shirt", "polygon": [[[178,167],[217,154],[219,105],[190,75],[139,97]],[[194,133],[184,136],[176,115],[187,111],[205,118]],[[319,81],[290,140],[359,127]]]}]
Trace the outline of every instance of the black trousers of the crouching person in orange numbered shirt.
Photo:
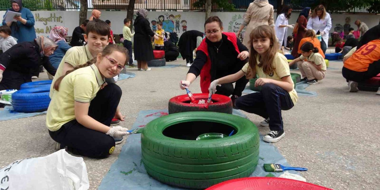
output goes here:
[{"label": "black trousers of the crouching person in orange numbered shirt", "polygon": [[363,72],[342,68],[342,75],[347,81],[364,82],[380,73],[380,60],[369,64],[368,70]]}]

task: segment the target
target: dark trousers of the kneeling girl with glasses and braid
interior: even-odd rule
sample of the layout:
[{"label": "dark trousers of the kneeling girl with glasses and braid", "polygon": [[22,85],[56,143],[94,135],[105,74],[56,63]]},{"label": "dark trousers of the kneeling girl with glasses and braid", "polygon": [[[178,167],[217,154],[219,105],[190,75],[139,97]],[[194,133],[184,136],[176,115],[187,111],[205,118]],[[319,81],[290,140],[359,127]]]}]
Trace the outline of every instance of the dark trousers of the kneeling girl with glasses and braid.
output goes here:
[{"label": "dark trousers of the kneeling girl with glasses and braid", "polygon": [[[115,116],[116,108],[122,91],[116,84],[108,84],[99,90],[91,101],[89,116],[104,125],[109,126]],[[104,158],[112,154],[115,149],[115,140],[109,135],[84,127],[77,120],[65,123],[57,131],[49,131],[54,141],[61,147],[67,146],[73,154],[91,158]]]}]

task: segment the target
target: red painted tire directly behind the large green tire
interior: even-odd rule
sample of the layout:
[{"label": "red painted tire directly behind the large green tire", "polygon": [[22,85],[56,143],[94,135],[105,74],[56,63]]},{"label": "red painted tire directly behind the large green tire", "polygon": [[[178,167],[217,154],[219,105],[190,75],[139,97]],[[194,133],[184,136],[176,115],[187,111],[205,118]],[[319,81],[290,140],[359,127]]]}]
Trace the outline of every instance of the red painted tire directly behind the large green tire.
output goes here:
[{"label": "red painted tire directly behind the large green tire", "polygon": [[[195,100],[207,100],[208,93],[193,94]],[[212,95],[212,103],[209,108],[204,108],[204,104],[191,104],[190,98],[187,94],[173,97],[169,100],[169,114],[187,112],[187,111],[212,111],[226,114],[232,114],[232,101],[231,98],[220,94]]]}]

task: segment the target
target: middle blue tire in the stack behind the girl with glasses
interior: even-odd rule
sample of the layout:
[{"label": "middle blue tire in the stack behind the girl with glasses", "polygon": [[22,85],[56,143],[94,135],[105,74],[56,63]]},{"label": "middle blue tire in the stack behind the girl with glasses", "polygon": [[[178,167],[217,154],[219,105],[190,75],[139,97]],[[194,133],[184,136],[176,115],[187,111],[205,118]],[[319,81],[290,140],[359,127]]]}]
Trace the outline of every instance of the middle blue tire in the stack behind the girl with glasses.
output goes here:
[{"label": "middle blue tire in the stack behind the girl with glasses", "polygon": [[49,97],[50,87],[39,87],[32,89],[22,89],[12,94],[13,100],[40,100]]}]

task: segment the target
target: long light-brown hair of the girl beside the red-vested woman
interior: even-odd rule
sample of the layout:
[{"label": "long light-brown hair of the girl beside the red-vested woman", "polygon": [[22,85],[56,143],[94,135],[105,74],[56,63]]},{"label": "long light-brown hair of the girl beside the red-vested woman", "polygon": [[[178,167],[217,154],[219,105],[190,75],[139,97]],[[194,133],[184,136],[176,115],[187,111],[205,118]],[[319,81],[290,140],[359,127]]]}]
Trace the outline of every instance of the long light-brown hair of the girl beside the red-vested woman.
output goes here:
[{"label": "long light-brown hair of the girl beside the red-vested woman", "polygon": [[277,51],[279,49],[279,44],[276,40],[276,35],[272,27],[268,25],[260,25],[252,30],[251,34],[249,35],[249,38],[251,39],[249,41],[250,45],[250,56],[249,56],[249,66],[251,69],[251,74],[253,77],[256,77],[256,65],[257,65],[257,59],[256,57],[259,55],[258,52],[253,48],[253,40],[258,38],[269,38],[271,40],[271,45],[269,46],[269,49],[264,52],[264,55],[261,55],[262,62],[258,67],[262,67],[265,74],[271,74],[274,71],[273,68],[273,60],[274,56],[277,54]]}]

